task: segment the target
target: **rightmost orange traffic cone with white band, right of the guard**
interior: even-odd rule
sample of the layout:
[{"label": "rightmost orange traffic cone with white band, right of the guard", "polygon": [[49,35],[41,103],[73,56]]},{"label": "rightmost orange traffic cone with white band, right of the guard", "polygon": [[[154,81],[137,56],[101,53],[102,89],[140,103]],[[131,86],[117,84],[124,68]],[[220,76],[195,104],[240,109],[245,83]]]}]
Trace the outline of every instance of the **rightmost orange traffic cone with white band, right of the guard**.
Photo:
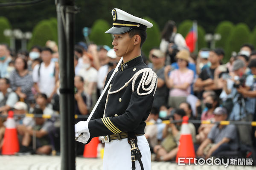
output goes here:
[{"label": "rightmost orange traffic cone with white band, right of the guard", "polygon": [[[183,122],[181,125],[180,144],[178,147],[178,153],[176,156],[176,163],[179,163],[179,158],[182,163],[189,164],[194,163],[195,149],[192,140],[192,135],[188,125],[188,116],[183,116]],[[190,158],[190,159],[186,159]]]}]

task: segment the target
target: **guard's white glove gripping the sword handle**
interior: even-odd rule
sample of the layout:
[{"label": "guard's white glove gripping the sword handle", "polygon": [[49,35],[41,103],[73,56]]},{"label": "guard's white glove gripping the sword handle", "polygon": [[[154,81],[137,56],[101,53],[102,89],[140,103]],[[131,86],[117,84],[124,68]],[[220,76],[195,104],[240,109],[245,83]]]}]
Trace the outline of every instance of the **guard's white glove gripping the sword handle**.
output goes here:
[{"label": "guard's white glove gripping the sword handle", "polygon": [[75,125],[75,136],[78,142],[87,143],[90,139],[87,121],[80,121]]}]

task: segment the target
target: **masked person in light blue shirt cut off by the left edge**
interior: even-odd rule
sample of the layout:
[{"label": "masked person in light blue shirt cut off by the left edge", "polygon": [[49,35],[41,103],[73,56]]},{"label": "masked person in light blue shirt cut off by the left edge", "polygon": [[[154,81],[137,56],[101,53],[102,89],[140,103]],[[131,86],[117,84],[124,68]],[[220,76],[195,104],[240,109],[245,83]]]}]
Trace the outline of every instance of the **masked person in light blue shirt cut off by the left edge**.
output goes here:
[{"label": "masked person in light blue shirt cut off by the left edge", "polygon": [[0,44],[0,77],[9,77],[7,68],[11,61],[12,58],[8,57],[8,46]]}]

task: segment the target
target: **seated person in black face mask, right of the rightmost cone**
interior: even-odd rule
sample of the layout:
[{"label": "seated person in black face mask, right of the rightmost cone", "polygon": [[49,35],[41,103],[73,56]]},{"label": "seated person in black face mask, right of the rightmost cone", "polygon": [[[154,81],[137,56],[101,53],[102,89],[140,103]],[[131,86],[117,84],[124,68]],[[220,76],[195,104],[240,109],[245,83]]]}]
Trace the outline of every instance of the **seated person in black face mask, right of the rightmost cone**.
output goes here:
[{"label": "seated person in black face mask, right of the rightmost cone", "polygon": [[[205,120],[211,120],[214,121],[214,114],[213,111],[215,108],[218,107],[219,102],[218,102],[218,96],[216,96],[215,94],[212,95],[210,94],[209,96],[207,96],[204,100],[204,105],[207,107],[207,111],[204,111],[204,113],[202,113],[201,116],[201,121],[205,121]],[[209,133],[209,131],[211,130],[212,126],[214,124],[201,124],[198,128],[198,135],[196,135],[196,140],[197,143],[201,143],[203,142],[206,138],[207,135]]]}]

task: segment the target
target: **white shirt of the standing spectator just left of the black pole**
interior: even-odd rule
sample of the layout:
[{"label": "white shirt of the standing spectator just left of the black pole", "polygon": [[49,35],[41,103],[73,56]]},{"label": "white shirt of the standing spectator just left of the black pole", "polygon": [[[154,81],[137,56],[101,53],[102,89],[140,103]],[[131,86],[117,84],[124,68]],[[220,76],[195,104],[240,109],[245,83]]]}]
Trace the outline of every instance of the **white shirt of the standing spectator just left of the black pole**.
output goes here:
[{"label": "white shirt of the standing spectator just left of the black pole", "polygon": [[33,82],[38,83],[38,88],[41,93],[44,93],[49,97],[55,88],[55,63],[51,62],[45,67],[44,62],[41,63],[40,76],[38,75],[39,64],[35,66],[33,70]]}]

